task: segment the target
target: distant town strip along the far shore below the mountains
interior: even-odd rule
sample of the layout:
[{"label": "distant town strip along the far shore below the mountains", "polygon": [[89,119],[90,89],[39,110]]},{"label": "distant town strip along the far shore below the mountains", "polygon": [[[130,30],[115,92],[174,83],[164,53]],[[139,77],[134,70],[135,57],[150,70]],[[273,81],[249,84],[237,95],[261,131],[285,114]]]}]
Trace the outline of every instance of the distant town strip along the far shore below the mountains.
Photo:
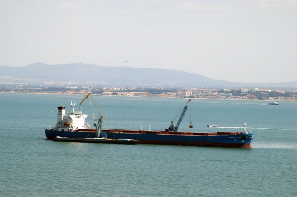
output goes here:
[{"label": "distant town strip along the far shore below the mountains", "polygon": [[85,94],[108,96],[177,97],[204,99],[249,99],[297,101],[297,90],[271,90],[240,87],[238,89],[212,88],[165,88],[165,87],[90,87],[53,86],[51,84],[1,84],[0,92],[43,93],[43,94]]}]

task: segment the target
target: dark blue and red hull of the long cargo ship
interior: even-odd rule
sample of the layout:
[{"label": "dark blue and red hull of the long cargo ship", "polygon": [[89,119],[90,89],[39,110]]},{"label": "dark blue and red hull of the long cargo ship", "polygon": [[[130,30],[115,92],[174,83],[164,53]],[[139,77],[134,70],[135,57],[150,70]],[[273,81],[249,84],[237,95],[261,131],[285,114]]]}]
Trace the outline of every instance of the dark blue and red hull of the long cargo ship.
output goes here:
[{"label": "dark blue and red hull of the long cargo ship", "polygon": [[[83,129],[79,131],[55,131],[46,129],[48,139],[56,136],[70,138],[96,137],[95,129]],[[140,130],[114,130],[103,129],[110,139],[134,139],[139,144],[161,144],[203,147],[225,148],[251,148],[253,133],[240,132],[216,132],[216,133],[192,133],[173,131],[140,131]]]}]

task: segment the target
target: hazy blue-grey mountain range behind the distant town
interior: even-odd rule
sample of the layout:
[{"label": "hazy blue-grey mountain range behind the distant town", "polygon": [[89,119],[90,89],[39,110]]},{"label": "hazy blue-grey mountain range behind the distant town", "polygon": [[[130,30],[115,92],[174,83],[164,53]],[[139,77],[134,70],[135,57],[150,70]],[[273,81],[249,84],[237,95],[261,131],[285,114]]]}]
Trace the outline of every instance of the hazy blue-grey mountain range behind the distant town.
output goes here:
[{"label": "hazy blue-grey mountain range behind the distant town", "polygon": [[104,67],[72,63],[49,65],[41,62],[24,67],[0,66],[0,83],[80,84],[91,86],[161,86],[209,88],[297,88],[297,81],[282,83],[243,83],[215,80],[202,75],[169,69]]}]

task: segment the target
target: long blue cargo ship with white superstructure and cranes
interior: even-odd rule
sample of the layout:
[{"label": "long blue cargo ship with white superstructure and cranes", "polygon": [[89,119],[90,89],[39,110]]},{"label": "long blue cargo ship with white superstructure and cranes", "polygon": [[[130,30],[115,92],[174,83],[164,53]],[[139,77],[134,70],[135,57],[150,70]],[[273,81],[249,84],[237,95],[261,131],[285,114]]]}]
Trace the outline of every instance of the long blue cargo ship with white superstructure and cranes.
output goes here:
[{"label": "long blue cargo ship with white superstructure and cranes", "polygon": [[[87,98],[89,100],[88,96]],[[100,137],[107,139],[134,139],[137,141],[138,144],[251,148],[251,142],[253,140],[254,133],[246,132],[246,123],[244,124],[245,127],[243,132],[202,133],[177,131],[178,126],[187,111],[189,102],[190,100],[184,107],[182,115],[179,118],[177,125],[175,126],[173,121],[171,121],[170,126],[166,128],[164,131],[150,131],[142,129],[102,129],[101,122],[104,117],[99,112],[100,118],[96,119],[93,110],[91,110],[95,122],[94,126],[96,126],[96,129],[94,129],[91,128],[90,124],[88,124],[85,121],[85,118],[87,118],[88,115],[82,113],[82,108],[80,108],[80,111],[75,111],[74,106],[76,106],[76,104],[72,104],[71,102],[71,107],[73,108],[67,114],[65,113],[65,106],[58,106],[57,123],[52,128],[46,129],[45,133],[48,139],[54,139],[57,136],[68,138]],[[91,106],[90,102],[89,105]],[[96,107],[98,109],[97,105]]]}]

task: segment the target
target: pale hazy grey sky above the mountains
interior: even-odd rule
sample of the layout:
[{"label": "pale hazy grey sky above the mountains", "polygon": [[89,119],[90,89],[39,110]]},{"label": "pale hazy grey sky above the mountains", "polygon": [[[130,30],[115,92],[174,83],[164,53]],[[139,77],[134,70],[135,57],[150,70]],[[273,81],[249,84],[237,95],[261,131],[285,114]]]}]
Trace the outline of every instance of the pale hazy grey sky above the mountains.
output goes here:
[{"label": "pale hazy grey sky above the mountains", "polygon": [[35,62],[297,81],[297,0],[0,0],[0,65]]}]

